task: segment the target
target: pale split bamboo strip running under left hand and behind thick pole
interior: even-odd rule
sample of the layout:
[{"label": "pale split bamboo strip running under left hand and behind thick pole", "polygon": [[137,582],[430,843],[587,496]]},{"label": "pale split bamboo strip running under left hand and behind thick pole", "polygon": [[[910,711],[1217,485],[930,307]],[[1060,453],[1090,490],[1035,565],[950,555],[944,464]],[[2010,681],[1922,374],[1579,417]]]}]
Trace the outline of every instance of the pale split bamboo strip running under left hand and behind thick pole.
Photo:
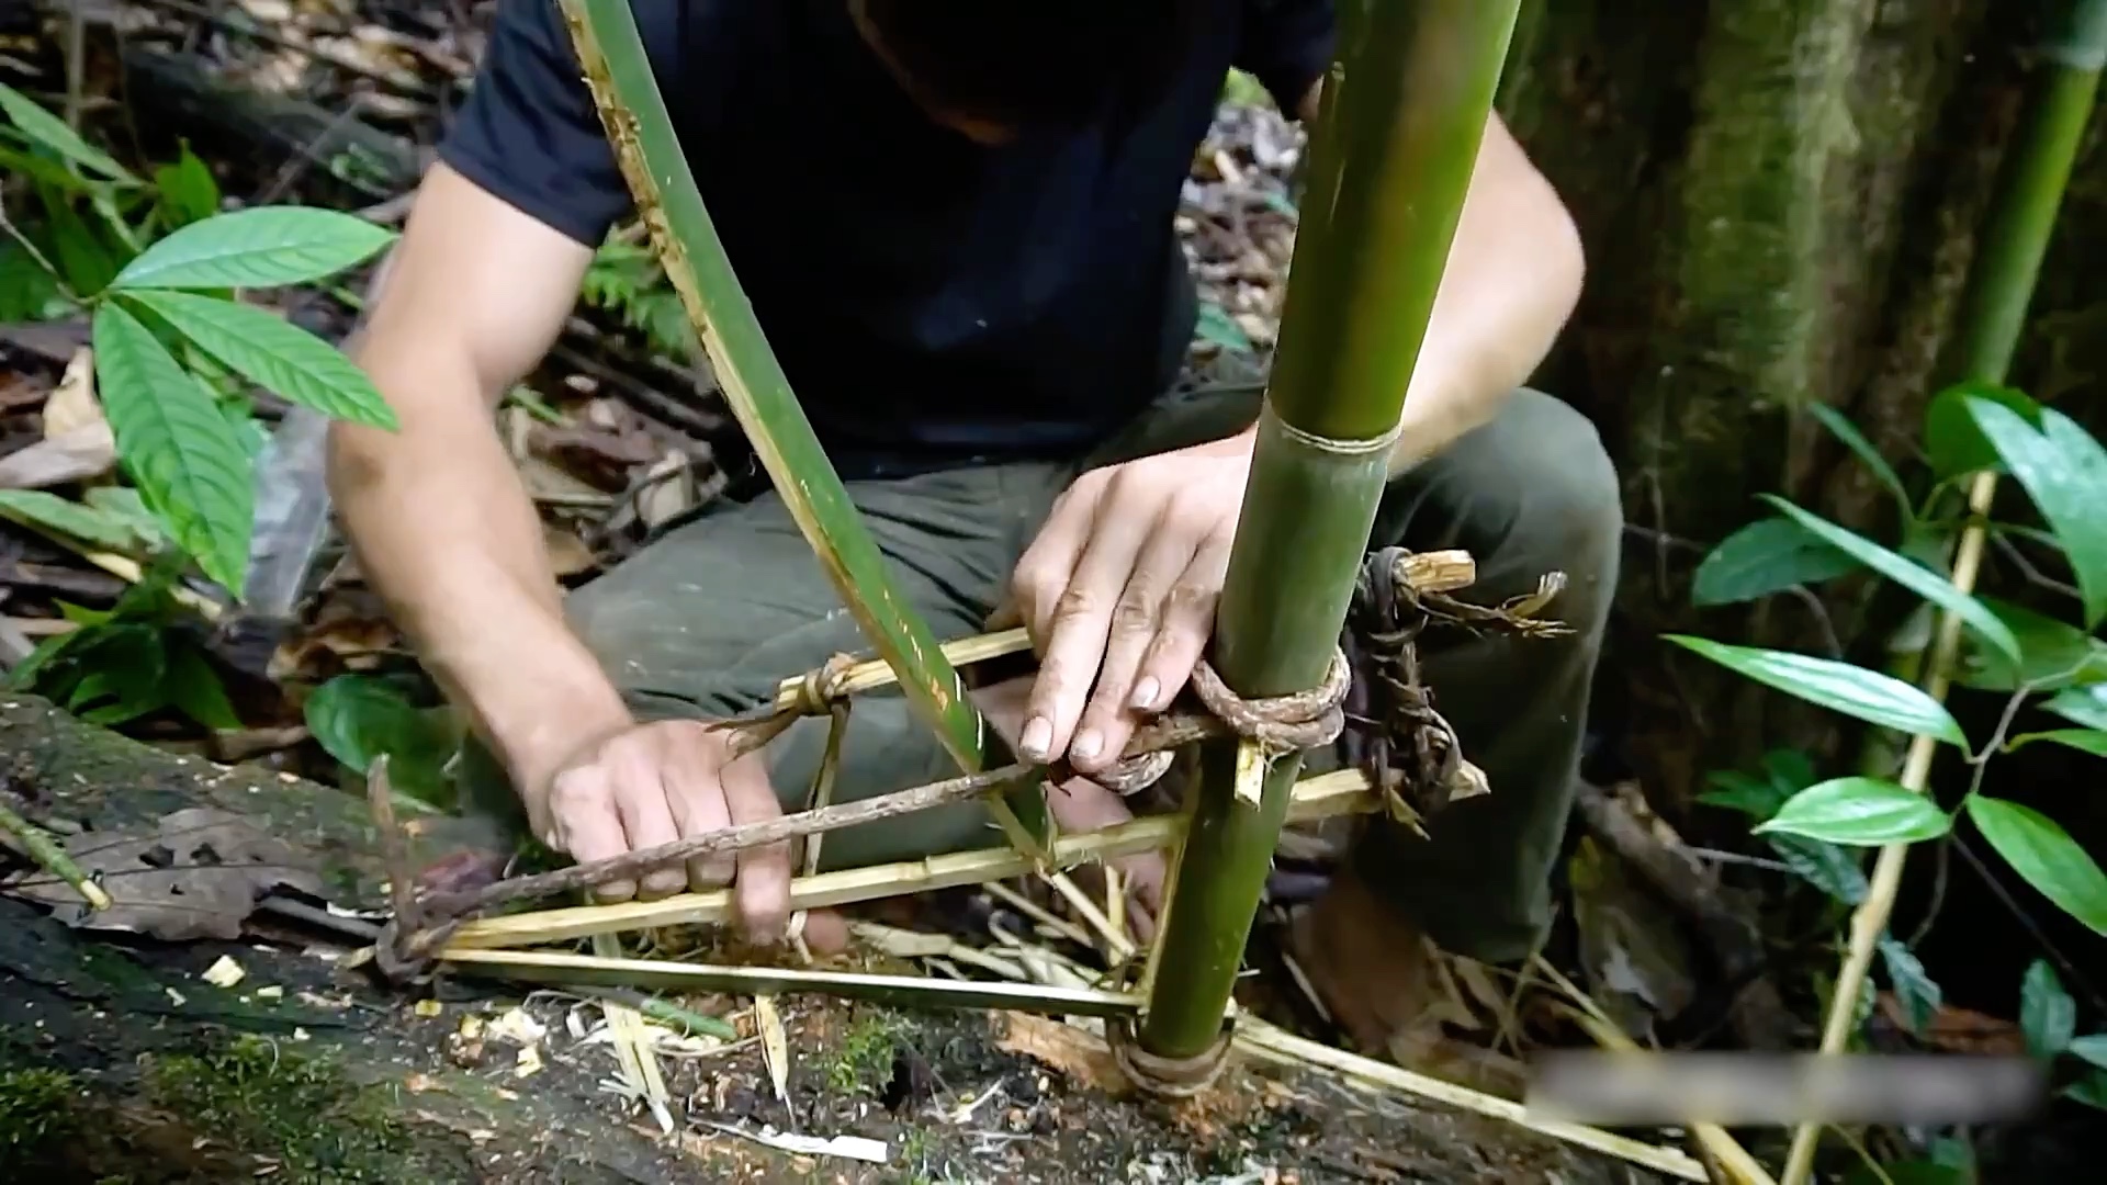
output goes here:
[{"label": "pale split bamboo strip running under left hand and behind thick pole", "polygon": [[[1287,818],[1300,822],[1338,814],[1372,814],[1378,810],[1382,810],[1382,799],[1370,791],[1367,776],[1359,770],[1340,770],[1306,778],[1298,784]],[[1182,831],[1184,816],[1155,814],[1100,831],[1062,835],[1054,841],[1051,862],[1058,869],[1072,869],[1091,860],[1155,852],[1174,843]],[[796,877],[790,881],[790,909],[853,905],[883,896],[1001,881],[1032,871],[1037,871],[1035,860],[1007,848],[950,852],[923,860],[902,860],[898,865],[872,865],[866,869]],[[590,938],[592,934],[657,930],[659,926],[716,926],[731,921],[733,915],[731,890],[714,890],[668,896],[664,900],[626,900],[619,905],[579,905],[506,917],[478,917],[464,921],[438,951],[438,957],[447,959],[455,951],[468,949],[567,943]]]}]

